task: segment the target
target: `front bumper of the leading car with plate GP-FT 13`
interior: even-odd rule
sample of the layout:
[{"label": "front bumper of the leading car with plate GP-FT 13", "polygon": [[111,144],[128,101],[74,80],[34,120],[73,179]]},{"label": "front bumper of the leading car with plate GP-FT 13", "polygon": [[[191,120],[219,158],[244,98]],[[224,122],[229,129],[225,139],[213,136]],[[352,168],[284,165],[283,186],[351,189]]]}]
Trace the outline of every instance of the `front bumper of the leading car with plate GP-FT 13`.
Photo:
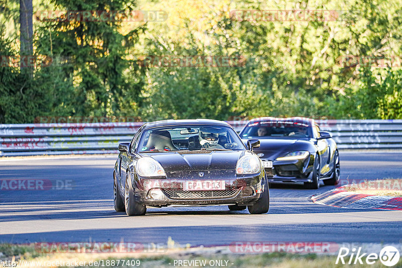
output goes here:
[{"label": "front bumper of the leading car with plate GP-FT 13", "polygon": [[[166,172],[166,179],[141,178],[132,174],[134,197],[147,206],[208,206],[247,205],[258,200],[263,190],[263,172],[252,176],[238,176],[233,170]],[[184,191],[184,181],[225,181],[225,190]],[[157,198],[151,193],[158,192]],[[154,192],[155,193],[155,192]]]}]

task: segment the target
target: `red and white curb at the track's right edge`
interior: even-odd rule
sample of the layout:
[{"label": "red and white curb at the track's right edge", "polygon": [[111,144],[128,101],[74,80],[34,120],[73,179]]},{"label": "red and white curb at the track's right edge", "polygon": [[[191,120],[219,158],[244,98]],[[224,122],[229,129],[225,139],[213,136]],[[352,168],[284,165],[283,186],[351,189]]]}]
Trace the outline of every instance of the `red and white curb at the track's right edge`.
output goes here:
[{"label": "red and white curb at the track's right edge", "polygon": [[402,210],[402,197],[377,196],[348,192],[342,188],[313,195],[314,203],[341,208]]}]

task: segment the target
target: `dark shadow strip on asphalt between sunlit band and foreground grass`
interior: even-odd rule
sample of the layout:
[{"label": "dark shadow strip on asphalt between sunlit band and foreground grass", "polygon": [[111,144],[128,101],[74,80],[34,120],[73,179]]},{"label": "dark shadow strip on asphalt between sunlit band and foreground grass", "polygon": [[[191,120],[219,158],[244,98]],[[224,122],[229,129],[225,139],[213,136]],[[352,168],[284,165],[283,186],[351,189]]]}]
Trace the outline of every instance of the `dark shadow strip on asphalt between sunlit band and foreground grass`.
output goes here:
[{"label": "dark shadow strip on asphalt between sunlit band and foreground grass", "polygon": [[[377,228],[381,225],[381,228]],[[387,230],[384,232],[384,229]],[[228,245],[236,241],[326,241],[399,243],[400,222],[351,222],[323,224],[264,224],[168,226],[141,228],[98,228],[0,235],[0,242],[136,242],[165,244],[171,237],[176,245]],[[207,242],[208,241],[208,242]]]}]

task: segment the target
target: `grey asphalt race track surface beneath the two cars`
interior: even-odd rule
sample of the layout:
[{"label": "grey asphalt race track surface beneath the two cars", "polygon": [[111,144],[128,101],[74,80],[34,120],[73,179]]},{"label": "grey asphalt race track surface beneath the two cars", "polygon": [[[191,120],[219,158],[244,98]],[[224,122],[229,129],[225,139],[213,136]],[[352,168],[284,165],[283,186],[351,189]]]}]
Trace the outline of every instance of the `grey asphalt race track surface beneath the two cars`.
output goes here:
[{"label": "grey asphalt race track surface beneath the two cars", "polygon": [[[341,179],[402,178],[402,153],[340,152]],[[268,214],[226,206],[148,208],[128,217],[113,208],[115,157],[0,161],[0,180],[43,179],[67,189],[0,190],[0,242],[111,242],[224,245],[236,241],[402,243],[402,211],[314,204],[306,190],[271,185]],[[71,186],[70,186],[71,185]],[[72,188],[72,189],[71,189]]]}]

